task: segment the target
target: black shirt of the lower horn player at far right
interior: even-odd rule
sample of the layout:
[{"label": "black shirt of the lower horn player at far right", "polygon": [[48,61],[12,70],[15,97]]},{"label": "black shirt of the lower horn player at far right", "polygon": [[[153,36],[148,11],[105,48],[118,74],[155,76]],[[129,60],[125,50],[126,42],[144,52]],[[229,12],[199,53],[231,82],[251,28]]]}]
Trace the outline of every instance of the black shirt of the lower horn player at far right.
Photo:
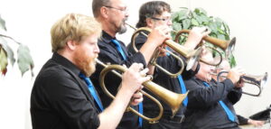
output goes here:
[{"label": "black shirt of the lower horn player at far right", "polygon": [[[211,80],[210,87],[205,87],[203,81],[191,78],[184,81],[190,93],[188,94],[188,106],[185,112],[186,118],[182,123],[187,129],[214,129],[214,128],[238,128],[238,118],[233,105],[238,102],[240,93],[232,91],[234,88],[230,79],[221,83]],[[222,100],[235,115],[237,122],[231,122],[219,101]]]}]

